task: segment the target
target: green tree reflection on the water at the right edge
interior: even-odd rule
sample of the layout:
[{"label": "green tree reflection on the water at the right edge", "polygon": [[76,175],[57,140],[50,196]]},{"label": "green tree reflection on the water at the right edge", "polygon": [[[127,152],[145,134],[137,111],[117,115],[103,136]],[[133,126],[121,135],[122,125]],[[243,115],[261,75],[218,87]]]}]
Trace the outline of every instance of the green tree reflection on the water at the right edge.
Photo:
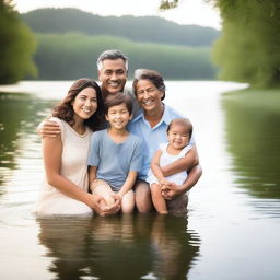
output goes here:
[{"label": "green tree reflection on the water at the right edge", "polygon": [[252,203],[280,217],[280,106],[276,94],[229,94],[223,107],[236,185],[256,198]]}]

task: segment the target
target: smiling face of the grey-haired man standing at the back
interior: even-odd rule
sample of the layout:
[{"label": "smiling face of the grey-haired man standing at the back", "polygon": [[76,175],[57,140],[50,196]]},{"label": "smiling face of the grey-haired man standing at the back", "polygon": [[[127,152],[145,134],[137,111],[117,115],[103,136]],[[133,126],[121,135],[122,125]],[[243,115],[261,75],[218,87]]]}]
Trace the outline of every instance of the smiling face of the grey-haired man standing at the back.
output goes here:
[{"label": "smiling face of the grey-haired man standing at the back", "polygon": [[102,91],[113,94],[122,92],[127,81],[125,61],[121,58],[103,60],[98,79],[102,82]]}]

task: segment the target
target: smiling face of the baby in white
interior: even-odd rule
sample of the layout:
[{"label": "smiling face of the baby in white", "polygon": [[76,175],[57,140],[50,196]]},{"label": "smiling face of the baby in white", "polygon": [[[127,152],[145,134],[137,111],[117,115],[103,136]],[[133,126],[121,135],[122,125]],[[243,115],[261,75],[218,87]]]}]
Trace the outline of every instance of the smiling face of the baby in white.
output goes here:
[{"label": "smiling face of the baby in white", "polygon": [[189,142],[189,131],[186,129],[186,126],[174,124],[170,128],[167,139],[174,149],[182,150]]}]

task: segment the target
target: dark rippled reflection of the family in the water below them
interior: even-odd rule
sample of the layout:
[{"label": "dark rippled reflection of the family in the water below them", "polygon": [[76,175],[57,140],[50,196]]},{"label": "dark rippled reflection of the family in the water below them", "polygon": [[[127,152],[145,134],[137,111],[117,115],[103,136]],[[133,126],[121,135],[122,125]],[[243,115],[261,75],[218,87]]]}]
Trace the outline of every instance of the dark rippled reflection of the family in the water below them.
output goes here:
[{"label": "dark rippled reflection of the family in the water below them", "polygon": [[54,279],[187,279],[199,237],[178,217],[39,219]]}]

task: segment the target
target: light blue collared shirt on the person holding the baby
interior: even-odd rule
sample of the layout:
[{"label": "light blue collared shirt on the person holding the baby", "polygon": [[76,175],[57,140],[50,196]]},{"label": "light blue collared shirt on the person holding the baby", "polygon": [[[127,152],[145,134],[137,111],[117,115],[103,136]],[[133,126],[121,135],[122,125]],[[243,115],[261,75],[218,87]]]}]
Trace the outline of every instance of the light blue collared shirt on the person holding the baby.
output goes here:
[{"label": "light blue collared shirt on the person holding the baby", "polygon": [[[143,167],[139,173],[139,177],[141,179],[147,178],[152,156],[158,151],[160,143],[167,141],[166,129],[171,120],[183,117],[183,115],[177,113],[168,105],[164,105],[162,119],[155,127],[151,128],[149,121],[147,121],[144,118],[143,112],[129,122],[128,130],[143,141]],[[190,144],[194,143],[194,137],[191,137]]]}]

